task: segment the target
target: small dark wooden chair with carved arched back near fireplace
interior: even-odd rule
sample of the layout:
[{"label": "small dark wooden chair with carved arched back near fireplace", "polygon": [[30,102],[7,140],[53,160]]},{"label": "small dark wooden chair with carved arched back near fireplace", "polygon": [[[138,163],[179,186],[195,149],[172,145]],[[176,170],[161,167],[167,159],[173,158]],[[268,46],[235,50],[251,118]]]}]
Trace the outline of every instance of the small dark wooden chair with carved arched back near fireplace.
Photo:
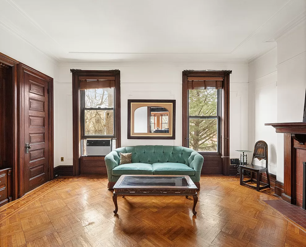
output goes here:
[{"label": "small dark wooden chair with carved arched back near fireplace", "polygon": [[[257,158],[258,160],[265,160],[266,165],[254,165],[254,159]],[[243,170],[251,172],[251,178],[243,181]],[[253,172],[257,174],[257,180],[253,179]],[[260,174],[265,172],[267,174],[268,183],[264,183],[260,181]],[[249,182],[256,183],[256,186],[248,184]],[[260,191],[262,189],[271,188],[270,187],[270,178],[269,178],[269,171],[268,171],[268,144],[265,141],[257,141],[254,147],[254,153],[252,158],[251,165],[240,165],[240,185],[250,187],[252,189],[256,189]],[[260,186],[262,185],[262,186]]]}]

